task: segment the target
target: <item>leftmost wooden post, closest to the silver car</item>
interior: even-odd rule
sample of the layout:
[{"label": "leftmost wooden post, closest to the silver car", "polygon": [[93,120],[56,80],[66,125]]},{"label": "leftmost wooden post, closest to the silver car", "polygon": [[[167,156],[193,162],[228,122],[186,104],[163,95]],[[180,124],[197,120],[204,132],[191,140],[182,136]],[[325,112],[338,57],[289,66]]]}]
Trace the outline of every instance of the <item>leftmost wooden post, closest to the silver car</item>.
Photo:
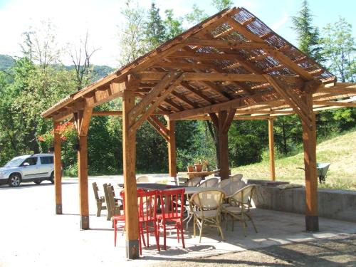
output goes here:
[{"label": "leftmost wooden post, closest to the silver car", "polygon": [[62,160],[61,136],[58,132],[60,122],[53,121],[54,130],[54,187],[56,194],[56,214],[62,214]]}]

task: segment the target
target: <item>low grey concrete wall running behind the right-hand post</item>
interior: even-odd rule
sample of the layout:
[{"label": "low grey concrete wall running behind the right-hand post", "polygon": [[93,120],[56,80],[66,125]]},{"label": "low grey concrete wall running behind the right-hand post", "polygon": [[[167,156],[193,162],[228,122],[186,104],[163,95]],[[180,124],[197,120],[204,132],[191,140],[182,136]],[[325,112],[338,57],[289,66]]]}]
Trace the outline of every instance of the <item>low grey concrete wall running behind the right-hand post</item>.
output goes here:
[{"label": "low grey concrete wall running behind the right-hand post", "polygon": [[[279,189],[258,185],[253,197],[256,207],[305,214],[305,188]],[[356,222],[356,192],[318,189],[319,216]]]}]

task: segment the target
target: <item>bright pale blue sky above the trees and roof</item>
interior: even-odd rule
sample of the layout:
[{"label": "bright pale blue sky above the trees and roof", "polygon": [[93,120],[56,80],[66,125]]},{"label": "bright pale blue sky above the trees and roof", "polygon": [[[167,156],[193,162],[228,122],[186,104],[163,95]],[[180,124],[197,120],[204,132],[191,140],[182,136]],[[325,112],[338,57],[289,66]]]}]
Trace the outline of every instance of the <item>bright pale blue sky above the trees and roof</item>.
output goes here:
[{"label": "bright pale blue sky above the trees and roof", "polygon": [[[242,6],[283,38],[296,45],[295,33],[290,29],[291,16],[300,9],[301,0],[236,0],[234,6]],[[151,1],[137,1],[149,7]],[[189,13],[192,4],[197,4],[207,14],[216,10],[210,0],[156,0],[162,15],[165,9],[173,9],[176,16]],[[122,18],[120,9],[125,0],[0,0],[0,54],[20,55],[21,33],[29,26],[38,26],[40,21],[51,19],[56,25],[58,45],[79,40],[88,29],[93,47],[100,48],[93,56],[93,63],[117,67],[120,56],[118,35]],[[314,25],[320,29],[326,23],[334,23],[339,16],[352,24],[356,36],[355,0],[309,0],[314,15]],[[63,57],[64,63],[70,63]]]}]

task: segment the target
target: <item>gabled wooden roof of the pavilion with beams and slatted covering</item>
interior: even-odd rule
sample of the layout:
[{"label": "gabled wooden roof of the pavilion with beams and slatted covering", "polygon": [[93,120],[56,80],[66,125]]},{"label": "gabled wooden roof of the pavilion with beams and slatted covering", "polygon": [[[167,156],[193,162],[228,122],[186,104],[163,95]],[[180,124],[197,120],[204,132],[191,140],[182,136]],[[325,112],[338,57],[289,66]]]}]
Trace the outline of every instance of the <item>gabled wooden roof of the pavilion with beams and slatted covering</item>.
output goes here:
[{"label": "gabled wooden roof of the pavilion with beams and slatted covering", "polygon": [[42,115],[64,120],[85,105],[121,97],[123,90],[135,90],[141,114],[171,120],[204,120],[209,112],[232,109],[236,119],[294,114],[293,103],[303,93],[313,93],[315,111],[356,106],[350,98],[355,84],[336,83],[328,70],[242,8],[211,16]]}]

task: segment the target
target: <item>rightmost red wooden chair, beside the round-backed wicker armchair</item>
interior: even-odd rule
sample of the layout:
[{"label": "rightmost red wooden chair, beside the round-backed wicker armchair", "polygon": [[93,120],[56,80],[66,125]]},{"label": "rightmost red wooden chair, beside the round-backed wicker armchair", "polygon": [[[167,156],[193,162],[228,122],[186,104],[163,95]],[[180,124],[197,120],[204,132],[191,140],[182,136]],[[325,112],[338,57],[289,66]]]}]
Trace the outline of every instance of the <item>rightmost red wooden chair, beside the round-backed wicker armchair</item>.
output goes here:
[{"label": "rightmost red wooden chair, beside the round-backed wicker armchair", "polygon": [[182,236],[183,248],[185,248],[183,232],[184,191],[184,189],[176,189],[159,192],[162,214],[159,214],[157,217],[159,219],[159,227],[163,228],[164,249],[167,249],[167,229],[177,229],[178,243],[180,234]]}]

